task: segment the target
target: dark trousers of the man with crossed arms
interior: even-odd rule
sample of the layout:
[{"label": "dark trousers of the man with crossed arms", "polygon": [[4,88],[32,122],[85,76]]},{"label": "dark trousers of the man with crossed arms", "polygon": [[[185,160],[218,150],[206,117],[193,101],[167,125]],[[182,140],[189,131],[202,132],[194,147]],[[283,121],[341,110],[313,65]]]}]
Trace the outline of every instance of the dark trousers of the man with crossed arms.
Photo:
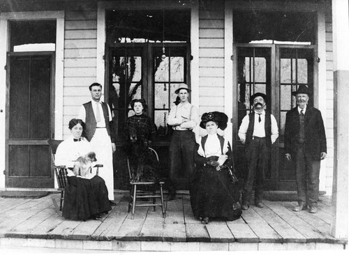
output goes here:
[{"label": "dark trousers of the man with crossed arms", "polygon": [[189,185],[193,181],[195,134],[191,130],[174,130],[170,141],[170,183],[171,193],[175,193],[179,184],[179,171],[184,169]]}]

